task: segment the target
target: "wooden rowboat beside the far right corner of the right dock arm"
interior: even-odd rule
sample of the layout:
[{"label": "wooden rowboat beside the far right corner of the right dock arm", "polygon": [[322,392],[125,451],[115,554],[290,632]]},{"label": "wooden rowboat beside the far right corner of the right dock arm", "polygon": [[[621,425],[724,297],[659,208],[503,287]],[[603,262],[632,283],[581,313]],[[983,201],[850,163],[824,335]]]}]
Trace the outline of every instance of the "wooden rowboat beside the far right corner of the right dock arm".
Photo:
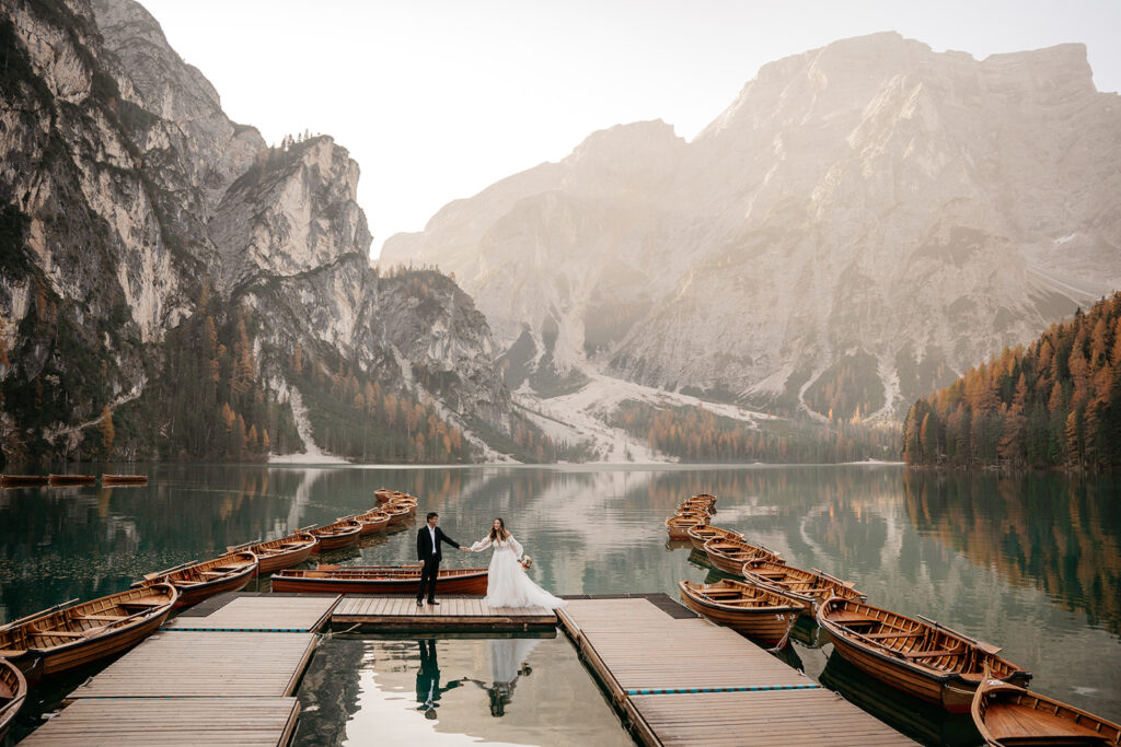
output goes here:
[{"label": "wooden rowboat beside the far right corner of the right dock arm", "polygon": [[773,591],[743,581],[680,581],[682,601],[693,611],[775,648],[790,637],[802,609]]}]

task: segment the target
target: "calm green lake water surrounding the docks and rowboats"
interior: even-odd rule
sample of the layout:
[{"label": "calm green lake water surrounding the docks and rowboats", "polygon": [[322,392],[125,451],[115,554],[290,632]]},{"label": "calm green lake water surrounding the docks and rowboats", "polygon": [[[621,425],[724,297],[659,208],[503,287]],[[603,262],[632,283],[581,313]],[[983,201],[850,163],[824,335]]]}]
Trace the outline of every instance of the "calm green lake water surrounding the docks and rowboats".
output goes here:
[{"label": "calm green lake water surrounding the docks and rowboats", "polygon": [[[504,517],[536,561],[531,575],[554,592],[676,598],[680,579],[715,573],[688,548],[670,547],[663,521],[683,497],[707,492],[719,498],[713,524],[794,566],[854,581],[871,604],[1001,645],[1035,674],[1034,689],[1121,721],[1117,477],[938,476],[896,466],[121,471],[133,468],[150,474],[148,486],[0,492],[0,620],[331,522],[368,508],[381,486],[419,496],[418,513],[439,512],[445,532],[464,544]],[[411,562],[414,538],[415,525],[326,560]],[[445,567],[488,560],[453,551]],[[967,717],[898,695],[831,651],[799,623],[782,657],[920,741],[976,744]],[[89,674],[36,693],[19,730]],[[630,744],[563,634],[430,642],[336,634],[317,651],[299,697],[298,744]]]}]

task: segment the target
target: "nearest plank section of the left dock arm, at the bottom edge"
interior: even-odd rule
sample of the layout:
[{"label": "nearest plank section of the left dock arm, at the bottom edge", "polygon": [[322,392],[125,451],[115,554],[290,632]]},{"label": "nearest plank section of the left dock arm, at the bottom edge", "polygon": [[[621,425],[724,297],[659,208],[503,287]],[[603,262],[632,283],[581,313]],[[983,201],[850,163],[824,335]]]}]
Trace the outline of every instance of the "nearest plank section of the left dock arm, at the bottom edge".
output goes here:
[{"label": "nearest plank section of the left dock arm, at the bottom edge", "polygon": [[280,747],[298,713],[295,698],[80,700],[20,744]]}]

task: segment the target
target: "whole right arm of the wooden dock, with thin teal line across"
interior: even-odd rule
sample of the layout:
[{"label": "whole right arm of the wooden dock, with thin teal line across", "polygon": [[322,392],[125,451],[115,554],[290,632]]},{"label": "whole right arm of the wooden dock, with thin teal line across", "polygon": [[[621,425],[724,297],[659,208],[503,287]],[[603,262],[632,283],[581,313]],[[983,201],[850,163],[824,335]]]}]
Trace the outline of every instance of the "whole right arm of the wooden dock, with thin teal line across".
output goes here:
[{"label": "whole right arm of the wooden dock, with thin teal line across", "polygon": [[738,633],[651,597],[557,610],[642,744],[914,744]]}]

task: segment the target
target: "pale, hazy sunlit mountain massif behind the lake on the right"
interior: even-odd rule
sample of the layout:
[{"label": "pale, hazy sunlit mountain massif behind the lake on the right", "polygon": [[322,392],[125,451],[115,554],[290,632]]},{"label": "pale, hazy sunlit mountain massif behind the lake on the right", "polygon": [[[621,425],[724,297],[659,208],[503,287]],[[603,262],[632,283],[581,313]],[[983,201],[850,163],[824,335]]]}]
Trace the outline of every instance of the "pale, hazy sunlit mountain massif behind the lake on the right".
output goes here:
[{"label": "pale, hazy sunlit mountain massif behind the lake on the right", "polygon": [[1121,287],[1119,158],[1081,45],[978,62],[880,34],[765,66],[693,142],[595,133],[382,261],[454,272],[511,385],[900,414]]}]

